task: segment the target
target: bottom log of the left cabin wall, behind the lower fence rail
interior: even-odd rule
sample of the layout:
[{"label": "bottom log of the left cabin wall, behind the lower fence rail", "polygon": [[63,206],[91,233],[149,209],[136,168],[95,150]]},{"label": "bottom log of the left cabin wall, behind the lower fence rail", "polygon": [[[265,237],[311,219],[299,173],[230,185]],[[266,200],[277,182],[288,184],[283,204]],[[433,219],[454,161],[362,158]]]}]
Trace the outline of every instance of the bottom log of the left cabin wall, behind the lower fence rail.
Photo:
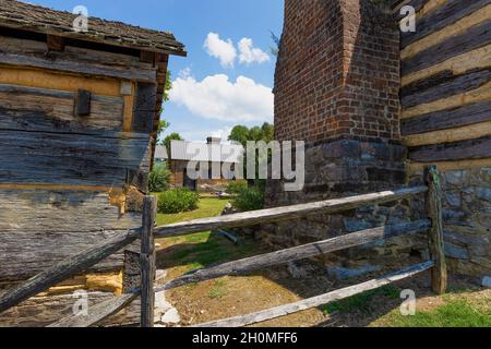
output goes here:
[{"label": "bottom log of the left cabin wall, behind the lower fence rail", "polygon": [[[44,327],[73,315],[73,305],[81,299],[79,294],[57,294],[33,297],[3,313],[0,313],[0,327]],[[87,292],[89,316],[98,304],[113,301],[110,292]],[[83,317],[76,316],[80,321]],[[118,313],[93,326],[132,326],[140,321],[140,300],[136,299]],[[76,322],[76,320],[75,320]]]}]

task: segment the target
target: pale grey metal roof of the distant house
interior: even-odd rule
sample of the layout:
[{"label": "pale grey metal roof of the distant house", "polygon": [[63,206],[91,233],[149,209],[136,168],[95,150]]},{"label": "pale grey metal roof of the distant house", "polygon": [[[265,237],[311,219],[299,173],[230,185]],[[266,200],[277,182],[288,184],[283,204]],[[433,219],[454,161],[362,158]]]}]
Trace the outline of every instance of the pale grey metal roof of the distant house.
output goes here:
[{"label": "pale grey metal roof of the distant house", "polygon": [[[236,144],[206,144],[197,142],[172,141],[170,143],[170,155],[172,160],[185,161],[211,161],[211,163],[241,163],[243,147]],[[155,158],[167,160],[167,149],[158,145]]]}]

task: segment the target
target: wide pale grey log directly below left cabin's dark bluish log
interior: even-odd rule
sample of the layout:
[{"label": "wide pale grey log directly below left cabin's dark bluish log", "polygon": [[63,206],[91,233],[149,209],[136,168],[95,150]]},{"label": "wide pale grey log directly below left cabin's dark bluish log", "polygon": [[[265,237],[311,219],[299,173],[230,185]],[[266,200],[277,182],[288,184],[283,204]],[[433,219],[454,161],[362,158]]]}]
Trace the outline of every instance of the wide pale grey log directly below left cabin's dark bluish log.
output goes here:
[{"label": "wide pale grey log directly below left cabin's dark bluish log", "polygon": [[[95,243],[141,226],[120,215],[109,194],[87,191],[0,189],[0,280],[22,280]],[[123,253],[92,270],[121,268]]]}]

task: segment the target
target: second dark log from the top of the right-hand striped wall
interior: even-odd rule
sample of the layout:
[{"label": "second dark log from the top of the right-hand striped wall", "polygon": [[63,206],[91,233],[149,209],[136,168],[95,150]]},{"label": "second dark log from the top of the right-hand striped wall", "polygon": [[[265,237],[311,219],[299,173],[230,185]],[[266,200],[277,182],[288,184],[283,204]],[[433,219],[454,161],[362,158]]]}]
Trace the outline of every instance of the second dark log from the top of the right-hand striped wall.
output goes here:
[{"label": "second dark log from the top of the right-hand striped wall", "polygon": [[480,25],[471,27],[460,35],[453,36],[443,43],[439,43],[438,45],[403,60],[402,74],[404,76],[423,70],[441,63],[448,58],[487,46],[490,43],[491,19]]}]

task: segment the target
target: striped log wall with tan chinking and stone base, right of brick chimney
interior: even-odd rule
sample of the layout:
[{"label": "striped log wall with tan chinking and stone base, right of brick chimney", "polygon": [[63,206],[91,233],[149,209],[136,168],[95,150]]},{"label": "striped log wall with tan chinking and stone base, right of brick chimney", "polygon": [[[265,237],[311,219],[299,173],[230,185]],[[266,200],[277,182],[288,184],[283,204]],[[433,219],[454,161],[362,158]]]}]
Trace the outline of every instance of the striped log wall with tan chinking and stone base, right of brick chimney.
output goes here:
[{"label": "striped log wall with tan chinking and stone base, right of brick chimney", "polygon": [[402,33],[402,135],[410,174],[443,171],[451,266],[489,273],[491,250],[491,0],[396,1],[417,11]]}]

